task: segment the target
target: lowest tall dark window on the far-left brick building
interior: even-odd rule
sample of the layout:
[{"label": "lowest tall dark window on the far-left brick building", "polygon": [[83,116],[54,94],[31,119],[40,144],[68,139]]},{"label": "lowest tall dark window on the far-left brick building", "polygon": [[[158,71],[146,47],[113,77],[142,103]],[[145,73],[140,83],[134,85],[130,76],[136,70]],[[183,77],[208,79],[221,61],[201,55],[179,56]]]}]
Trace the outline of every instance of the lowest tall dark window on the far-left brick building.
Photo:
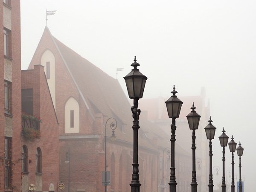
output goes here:
[{"label": "lowest tall dark window on the far-left brick building", "polygon": [[4,187],[10,189],[12,186],[12,138],[5,137],[5,174],[4,174]]}]

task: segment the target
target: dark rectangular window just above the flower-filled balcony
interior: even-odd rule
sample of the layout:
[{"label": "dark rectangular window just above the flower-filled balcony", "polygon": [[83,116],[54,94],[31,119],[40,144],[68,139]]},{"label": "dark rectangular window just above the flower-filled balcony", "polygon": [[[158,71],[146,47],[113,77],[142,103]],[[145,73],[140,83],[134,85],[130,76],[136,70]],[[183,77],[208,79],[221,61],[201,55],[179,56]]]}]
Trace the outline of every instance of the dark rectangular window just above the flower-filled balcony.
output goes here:
[{"label": "dark rectangular window just above the flower-filled balcony", "polygon": [[33,115],[33,89],[21,90],[21,111]]}]

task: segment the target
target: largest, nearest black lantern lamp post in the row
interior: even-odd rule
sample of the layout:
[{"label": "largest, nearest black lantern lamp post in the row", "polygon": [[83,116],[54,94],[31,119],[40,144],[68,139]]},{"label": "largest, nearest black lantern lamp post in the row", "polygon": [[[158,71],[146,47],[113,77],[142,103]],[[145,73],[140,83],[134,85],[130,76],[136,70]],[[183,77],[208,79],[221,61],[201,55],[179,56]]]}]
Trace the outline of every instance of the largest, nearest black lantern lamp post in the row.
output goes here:
[{"label": "largest, nearest black lantern lamp post in the row", "polygon": [[143,97],[143,92],[145,88],[146,76],[143,76],[142,73],[137,69],[140,64],[136,62],[136,56],[134,57],[134,63],[131,64],[134,69],[124,77],[126,87],[128,90],[128,95],[130,99],[134,100],[134,105],[131,107],[133,120],[133,130],[134,130],[134,144],[133,144],[133,169],[132,169],[132,180],[130,183],[131,192],[140,192],[140,181],[139,181],[139,163],[138,163],[138,130],[139,126],[139,117],[140,109],[138,109],[138,100]]}]

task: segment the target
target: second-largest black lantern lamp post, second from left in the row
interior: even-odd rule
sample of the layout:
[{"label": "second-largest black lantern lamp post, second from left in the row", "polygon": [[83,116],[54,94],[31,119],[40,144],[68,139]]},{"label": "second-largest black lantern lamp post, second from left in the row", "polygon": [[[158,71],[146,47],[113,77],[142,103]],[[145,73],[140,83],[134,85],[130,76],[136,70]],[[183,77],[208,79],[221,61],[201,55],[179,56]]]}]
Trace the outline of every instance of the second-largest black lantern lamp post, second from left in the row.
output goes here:
[{"label": "second-largest black lantern lamp post, second from left in the row", "polygon": [[172,90],[172,96],[165,102],[166,108],[168,112],[169,118],[172,118],[172,135],[171,135],[171,173],[170,173],[170,192],[176,192],[176,177],[175,177],[175,131],[176,131],[176,125],[175,120],[180,116],[180,109],[181,105],[183,104],[180,99],[177,98],[175,95],[177,91],[175,90],[175,86],[173,86]]}]

